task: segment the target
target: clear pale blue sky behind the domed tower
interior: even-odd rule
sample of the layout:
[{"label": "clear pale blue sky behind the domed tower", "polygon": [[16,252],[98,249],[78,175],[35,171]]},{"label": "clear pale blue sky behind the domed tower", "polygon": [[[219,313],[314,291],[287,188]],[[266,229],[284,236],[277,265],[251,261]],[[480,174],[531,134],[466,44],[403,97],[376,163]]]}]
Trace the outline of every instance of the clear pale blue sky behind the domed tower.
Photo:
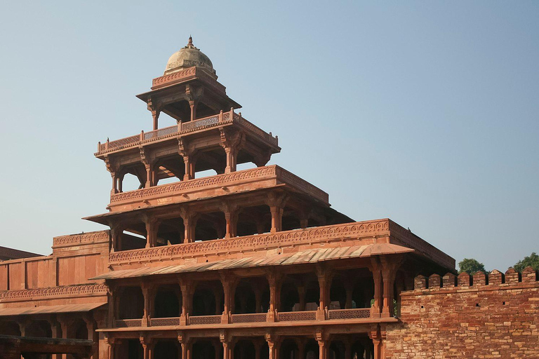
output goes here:
[{"label": "clear pale blue sky behind the domed tower", "polygon": [[[52,3],[52,4],[48,4]],[[255,4],[258,3],[258,4]],[[539,252],[539,2],[1,1],[0,245],[102,229],[98,141],[150,130],[189,34],[271,163],[505,271]],[[162,126],[172,125],[165,117]]]}]

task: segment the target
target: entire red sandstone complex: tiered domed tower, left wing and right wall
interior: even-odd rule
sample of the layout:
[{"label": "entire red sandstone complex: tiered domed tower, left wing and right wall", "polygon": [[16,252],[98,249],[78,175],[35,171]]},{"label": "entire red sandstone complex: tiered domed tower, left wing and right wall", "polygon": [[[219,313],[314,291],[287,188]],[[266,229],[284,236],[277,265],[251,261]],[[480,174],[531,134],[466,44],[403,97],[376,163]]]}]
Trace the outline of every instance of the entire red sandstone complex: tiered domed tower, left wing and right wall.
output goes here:
[{"label": "entire red sandstone complex: tiered domed tower, left wing and right wall", "polygon": [[457,278],[390,219],[333,210],[267,165],[277,137],[217,78],[189,39],[137,96],[153,129],[98,144],[109,212],[86,219],[109,230],[2,252],[1,358],[538,358],[535,271]]}]

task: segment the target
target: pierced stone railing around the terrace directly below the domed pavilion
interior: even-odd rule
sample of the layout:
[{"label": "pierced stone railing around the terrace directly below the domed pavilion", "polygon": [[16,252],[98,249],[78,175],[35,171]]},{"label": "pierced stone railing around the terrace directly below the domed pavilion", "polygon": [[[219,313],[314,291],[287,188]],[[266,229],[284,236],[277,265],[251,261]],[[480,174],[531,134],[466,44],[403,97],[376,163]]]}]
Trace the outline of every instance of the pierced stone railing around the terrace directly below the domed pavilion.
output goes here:
[{"label": "pierced stone railing around the terrace directly below the domed pavilion", "polygon": [[253,123],[241,117],[241,115],[234,113],[231,119],[230,112],[222,112],[222,114],[208,116],[204,118],[199,118],[194,121],[181,123],[178,126],[159,128],[157,130],[149,131],[146,133],[142,131],[140,135],[124,137],[124,138],[121,138],[119,140],[114,140],[114,141],[107,140],[107,142],[105,143],[100,142],[98,145],[97,154],[101,154],[107,151],[114,151],[117,149],[125,149],[128,147],[134,147],[139,144],[161,140],[166,137],[184,135],[186,133],[190,133],[195,130],[215,128],[218,126],[222,126],[223,123],[231,123],[231,122],[238,123],[240,126],[250,130],[251,132],[258,135],[259,137],[262,137],[267,142],[274,144],[275,146],[277,146],[279,143],[279,140],[277,139],[277,137],[273,137],[271,133],[265,133],[265,131],[253,125]]}]

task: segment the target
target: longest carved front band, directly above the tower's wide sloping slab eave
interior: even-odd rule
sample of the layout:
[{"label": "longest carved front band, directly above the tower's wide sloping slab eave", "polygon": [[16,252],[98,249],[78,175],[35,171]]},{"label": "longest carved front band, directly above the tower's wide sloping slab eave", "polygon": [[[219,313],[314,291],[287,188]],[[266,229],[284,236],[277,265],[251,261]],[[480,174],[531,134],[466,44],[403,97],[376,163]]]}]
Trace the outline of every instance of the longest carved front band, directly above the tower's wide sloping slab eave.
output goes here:
[{"label": "longest carved front band, directly above the tower's wide sloping slab eave", "polygon": [[199,243],[184,243],[166,247],[126,250],[109,254],[109,264],[145,262],[155,259],[177,259],[201,257],[220,253],[245,252],[249,250],[273,249],[282,246],[340,241],[342,238],[360,238],[389,235],[389,220],[354,222],[320,226],[311,229],[295,229],[270,234],[218,239]]}]

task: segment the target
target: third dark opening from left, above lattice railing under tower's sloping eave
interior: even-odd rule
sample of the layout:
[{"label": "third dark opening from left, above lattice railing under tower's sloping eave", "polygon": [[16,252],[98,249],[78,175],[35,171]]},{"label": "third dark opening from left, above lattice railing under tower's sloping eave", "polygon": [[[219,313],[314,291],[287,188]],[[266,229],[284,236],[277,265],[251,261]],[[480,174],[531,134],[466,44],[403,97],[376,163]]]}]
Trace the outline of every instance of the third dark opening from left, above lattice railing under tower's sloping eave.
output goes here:
[{"label": "third dark opening from left, above lattice railing under tower's sloping eave", "polygon": [[222,285],[218,280],[199,283],[193,294],[192,316],[215,316],[225,310]]}]

